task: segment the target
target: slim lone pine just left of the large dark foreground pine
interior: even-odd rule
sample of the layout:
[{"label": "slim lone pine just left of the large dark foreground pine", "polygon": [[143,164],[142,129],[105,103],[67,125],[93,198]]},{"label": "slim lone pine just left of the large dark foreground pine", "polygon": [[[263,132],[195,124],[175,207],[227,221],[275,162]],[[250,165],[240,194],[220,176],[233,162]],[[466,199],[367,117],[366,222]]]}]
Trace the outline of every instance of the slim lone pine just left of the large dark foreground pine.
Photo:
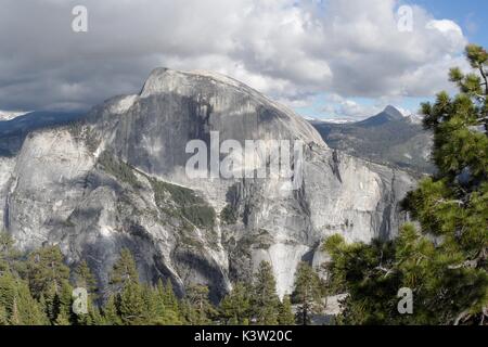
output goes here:
[{"label": "slim lone pine just left of the large dark foreground pine", "polygon": [[322,283],[318,273],[307,262],[298,265],[293,301],[298,304],[296,312],[298,324],[309,324],[311,317],[323,310]]}]

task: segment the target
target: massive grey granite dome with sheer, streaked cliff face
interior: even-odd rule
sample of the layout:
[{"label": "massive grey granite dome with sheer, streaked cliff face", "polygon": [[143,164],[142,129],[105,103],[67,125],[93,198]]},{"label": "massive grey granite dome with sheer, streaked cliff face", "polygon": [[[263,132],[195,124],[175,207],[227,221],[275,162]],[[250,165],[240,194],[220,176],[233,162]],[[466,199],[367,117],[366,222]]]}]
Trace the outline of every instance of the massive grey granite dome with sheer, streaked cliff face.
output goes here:
[{"label": "massive grey granite dome with sheer, streaked cliff face", "polygon": [[[210,147],[211,131],[243,146],[299,140],[301,174],[190,178],[185,146],[200,139]],[[306,120],[231,78],[165,68],[140,94],[35,130],[14,157],[0,158],[2,223],[23,249],[59,244],[69,264],[87,259],[103,285],[129,247],[142,280],[169,278],[180,292],[207,284],[215,299],[261,260],[279,294],[288,293],[298,261],[319,264],[331,234],[394,237],[413,185],[400,170],[331,150]]]}]

